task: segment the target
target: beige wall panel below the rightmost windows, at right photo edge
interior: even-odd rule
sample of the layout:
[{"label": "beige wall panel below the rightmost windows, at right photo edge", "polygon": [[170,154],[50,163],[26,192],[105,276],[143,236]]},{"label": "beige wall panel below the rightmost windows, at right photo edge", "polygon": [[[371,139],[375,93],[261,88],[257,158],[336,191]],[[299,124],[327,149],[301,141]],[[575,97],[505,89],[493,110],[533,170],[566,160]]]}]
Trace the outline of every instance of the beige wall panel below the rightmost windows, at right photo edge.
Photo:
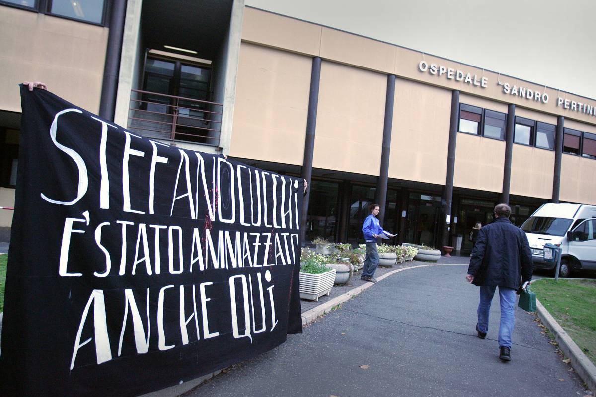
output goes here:
[{"label": "beige wall panel below the rightmost windows, at right photo edge", "polygon": [[596,160],[563,154],[560,201],[596,205]]}]

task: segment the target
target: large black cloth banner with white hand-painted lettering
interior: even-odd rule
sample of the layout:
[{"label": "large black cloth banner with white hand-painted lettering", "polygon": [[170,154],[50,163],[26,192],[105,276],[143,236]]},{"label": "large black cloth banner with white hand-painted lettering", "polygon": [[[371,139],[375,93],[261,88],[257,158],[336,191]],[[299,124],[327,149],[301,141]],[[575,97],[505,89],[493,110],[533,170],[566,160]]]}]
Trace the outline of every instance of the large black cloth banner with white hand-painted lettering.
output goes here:
[{"label": "large black cloth banner with white hand-painted lettering", "polygon": [[21,99],[2,395],[134,396],[302,332],[301,180]]}]

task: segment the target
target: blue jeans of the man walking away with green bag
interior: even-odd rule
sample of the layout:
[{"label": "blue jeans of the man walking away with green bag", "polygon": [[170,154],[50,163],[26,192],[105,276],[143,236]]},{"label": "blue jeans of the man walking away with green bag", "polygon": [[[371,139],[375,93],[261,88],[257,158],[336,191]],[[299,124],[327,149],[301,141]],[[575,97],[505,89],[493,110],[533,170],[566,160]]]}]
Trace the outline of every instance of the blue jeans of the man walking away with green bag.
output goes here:
[{"label": "blue jeans of the man walking away with green bag", "polygon": [[[478,329],[488,333],[488,318],[491,311],[492,297],[496,286],[480,287],[480,303],[478,304]],[[511,349],[511,333],[516,324],[514,309],[516,307],[516,290],[499,286],[501,301],[501,324],[499,325],[499,348]]]}]

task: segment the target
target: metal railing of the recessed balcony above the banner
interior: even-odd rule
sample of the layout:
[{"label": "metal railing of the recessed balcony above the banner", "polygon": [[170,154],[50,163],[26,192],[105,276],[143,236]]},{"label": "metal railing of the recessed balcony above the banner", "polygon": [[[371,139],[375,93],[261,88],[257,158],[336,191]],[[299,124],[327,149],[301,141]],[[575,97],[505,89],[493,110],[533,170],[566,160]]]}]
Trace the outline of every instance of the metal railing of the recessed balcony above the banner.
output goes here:
[{"label": "metal railing of the recessed balcony above the banner", "polygon": [[219,146],[223,107],[217,102],[131,90],[128,130],[154,139]]}]

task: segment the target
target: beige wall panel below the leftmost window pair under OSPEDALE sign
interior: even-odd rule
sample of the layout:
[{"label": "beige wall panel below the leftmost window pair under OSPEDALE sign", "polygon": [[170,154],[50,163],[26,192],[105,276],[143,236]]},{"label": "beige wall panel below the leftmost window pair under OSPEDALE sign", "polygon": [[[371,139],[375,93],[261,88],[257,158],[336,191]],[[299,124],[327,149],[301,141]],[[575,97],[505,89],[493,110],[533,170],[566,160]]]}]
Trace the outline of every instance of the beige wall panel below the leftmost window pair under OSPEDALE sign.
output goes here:
[{"label": "beige wall panel below the leftmost window pair under OSPEDALE sign", "polygon": [[457,134],[454,186],[501,192],[505,142],[465,133]]}]

